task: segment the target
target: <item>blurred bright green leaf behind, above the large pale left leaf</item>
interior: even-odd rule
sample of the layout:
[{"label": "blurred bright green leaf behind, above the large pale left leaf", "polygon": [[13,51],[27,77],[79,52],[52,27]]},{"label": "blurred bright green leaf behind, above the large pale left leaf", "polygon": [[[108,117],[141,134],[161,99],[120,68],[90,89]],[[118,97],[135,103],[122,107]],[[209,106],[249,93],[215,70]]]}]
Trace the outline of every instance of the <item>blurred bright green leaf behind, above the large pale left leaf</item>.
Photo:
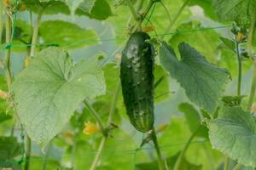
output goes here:
[{"label": "blurred bright green leaf behind, above the large pale left leaf", "polygon": [[57,44],[64,48],[86,47],[98,42],[95,31],[62,20],[44,21],[39,32],[45,43]]}]

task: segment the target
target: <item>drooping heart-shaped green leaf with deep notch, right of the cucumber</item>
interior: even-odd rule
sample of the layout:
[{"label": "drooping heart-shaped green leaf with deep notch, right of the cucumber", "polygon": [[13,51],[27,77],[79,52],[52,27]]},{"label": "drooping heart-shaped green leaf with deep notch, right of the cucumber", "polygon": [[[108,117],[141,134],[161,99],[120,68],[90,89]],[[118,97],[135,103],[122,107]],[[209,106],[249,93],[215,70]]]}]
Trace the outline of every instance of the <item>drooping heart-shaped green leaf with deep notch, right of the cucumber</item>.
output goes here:
[{"label": "drooping heart-shaped green leaf with deep notch, right of the cucumber", "polygon": [[230,74],[207,62],[204,56],[181,42],[178,46],[181,60],[166,42],[160,46],[160,61],[171,76],[185,89],[188,98],[206,111],[213,113]]}]

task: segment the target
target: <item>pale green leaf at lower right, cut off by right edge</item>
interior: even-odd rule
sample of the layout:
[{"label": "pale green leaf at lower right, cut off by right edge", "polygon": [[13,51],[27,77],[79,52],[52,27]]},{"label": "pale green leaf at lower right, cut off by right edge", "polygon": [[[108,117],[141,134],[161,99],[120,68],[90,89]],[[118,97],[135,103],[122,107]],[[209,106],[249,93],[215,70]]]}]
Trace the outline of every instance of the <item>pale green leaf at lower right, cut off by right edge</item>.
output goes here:
[{"label": "pale green leaf at lower right, cut off by right edge", "polygon": [[224,107],[208,122],[212,147],[243,165],[256,167],[255,117],[241,106]]}]

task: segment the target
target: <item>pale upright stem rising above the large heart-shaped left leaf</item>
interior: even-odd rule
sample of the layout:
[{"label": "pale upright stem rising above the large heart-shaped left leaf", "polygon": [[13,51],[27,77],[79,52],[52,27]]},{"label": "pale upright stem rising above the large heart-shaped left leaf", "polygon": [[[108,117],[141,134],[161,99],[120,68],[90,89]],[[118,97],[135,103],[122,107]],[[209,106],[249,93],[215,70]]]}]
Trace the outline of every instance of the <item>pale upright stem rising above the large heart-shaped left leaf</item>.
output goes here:
[{"label": "pale upright stem rising above the large heart-shaped left leaf", "polygon": [[38,31],[39,31],[39,27],[41,25],[41,19],[42,19],[43,13],[44,13],[44,8],[40,8],[38,10],[38,17],[36,20],[36,24],[33,28],[32,43],[31,43],[31,49],[30,49],[31,57],[35,56],[36,46],[37,46],[37,41],[38,41]]}]

